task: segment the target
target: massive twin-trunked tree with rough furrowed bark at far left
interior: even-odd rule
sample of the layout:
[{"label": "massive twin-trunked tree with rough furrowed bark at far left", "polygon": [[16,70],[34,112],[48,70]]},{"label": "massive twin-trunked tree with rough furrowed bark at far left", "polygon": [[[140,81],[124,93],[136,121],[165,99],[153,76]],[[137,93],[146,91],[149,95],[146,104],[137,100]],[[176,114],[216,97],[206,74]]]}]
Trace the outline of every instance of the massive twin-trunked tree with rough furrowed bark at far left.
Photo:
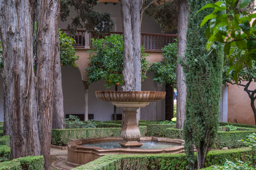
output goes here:
[{"label": "massive twin-trunked tree with rough furrowed bark at far left", "polygon": [[[0,1],[4,114],[11,158],[44,155],[50,169],[59,1]],[[34,18],[37,16],[36,74]]]}]

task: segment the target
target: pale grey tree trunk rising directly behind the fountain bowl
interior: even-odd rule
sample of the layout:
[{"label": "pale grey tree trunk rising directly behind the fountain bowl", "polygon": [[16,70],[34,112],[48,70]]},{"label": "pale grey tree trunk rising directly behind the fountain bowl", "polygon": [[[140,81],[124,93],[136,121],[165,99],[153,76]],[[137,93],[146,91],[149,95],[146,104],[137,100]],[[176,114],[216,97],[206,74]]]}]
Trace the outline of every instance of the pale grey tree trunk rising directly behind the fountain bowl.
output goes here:
[{"label": "pale grey tree trunk rising directly behind the fountain bowl", "polygon": [[[123,91],[141,91],[141,12],[143,1],[121,0],[123,23]],[[124,118],[124,116],[123,116]],[[139,125],[140,109],[137,110]]]}]

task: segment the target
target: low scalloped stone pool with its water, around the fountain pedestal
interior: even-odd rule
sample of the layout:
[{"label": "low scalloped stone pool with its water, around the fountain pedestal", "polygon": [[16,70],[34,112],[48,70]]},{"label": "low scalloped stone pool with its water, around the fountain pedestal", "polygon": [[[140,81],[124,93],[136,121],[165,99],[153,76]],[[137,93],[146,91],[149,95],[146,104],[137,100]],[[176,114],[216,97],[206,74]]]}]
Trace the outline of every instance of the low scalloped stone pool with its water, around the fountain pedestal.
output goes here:
[{"label": "low scalloped stone pool with its water, around the fountain pedestal", "polygon": [[164,154],[184,153],[184,140],[164,137],[141,137],[141,147],[121,147],[121,137],[98,137],[74,139],[68,143],[68,161],[72,166],[80,166],[101,156],[111,154]]}]

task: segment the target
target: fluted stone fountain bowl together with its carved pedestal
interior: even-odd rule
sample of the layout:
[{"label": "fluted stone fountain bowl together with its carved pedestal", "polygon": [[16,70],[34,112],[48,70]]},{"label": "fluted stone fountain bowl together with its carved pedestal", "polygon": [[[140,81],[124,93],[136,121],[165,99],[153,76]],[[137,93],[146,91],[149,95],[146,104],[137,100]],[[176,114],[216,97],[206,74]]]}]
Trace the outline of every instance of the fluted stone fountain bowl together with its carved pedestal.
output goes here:
[{"label": "fluted stone fountain bowl together with its carved pedestal", "polygon": [[165,91],[96,91],[96,97],[101,101],[110,101],[116,107],[122,107],[124,122],[119,142],[124,147],[138,147],[140,130],[137,125],[136,114],[140,107],[145,107],[150,102],[158,102],[165,98]]}]

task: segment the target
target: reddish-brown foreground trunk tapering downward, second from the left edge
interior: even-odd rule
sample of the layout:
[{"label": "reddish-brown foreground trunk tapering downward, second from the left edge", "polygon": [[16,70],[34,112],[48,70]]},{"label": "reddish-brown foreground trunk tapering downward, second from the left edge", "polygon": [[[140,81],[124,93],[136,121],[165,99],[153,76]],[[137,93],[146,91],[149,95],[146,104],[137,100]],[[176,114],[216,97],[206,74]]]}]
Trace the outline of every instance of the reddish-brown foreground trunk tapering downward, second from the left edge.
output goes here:
[{"label": "reddish-brown foreground trunk tapering downward, second from the left edge", "polygon": [[37,1],[37,115],[41,153],[50,169],[55,58],[58,47],[59,0]]}]

